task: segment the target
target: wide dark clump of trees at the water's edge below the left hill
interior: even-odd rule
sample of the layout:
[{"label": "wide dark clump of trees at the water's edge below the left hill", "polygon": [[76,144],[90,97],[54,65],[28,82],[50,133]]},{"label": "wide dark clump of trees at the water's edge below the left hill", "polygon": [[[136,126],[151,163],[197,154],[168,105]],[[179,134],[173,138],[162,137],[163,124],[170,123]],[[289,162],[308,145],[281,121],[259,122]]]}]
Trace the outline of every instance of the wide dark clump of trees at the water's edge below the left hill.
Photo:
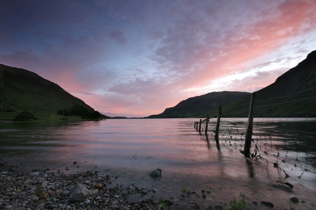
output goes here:
[{"label": "wide dark clump of trees at the water's edge below the left hill", "polygon": [[87,108],[84,108],[82,105],[75,104],[73,107],[67,109],[59,109],[57,114],[64,116],[81,116],[83,119],[99,119],[101,114],[98,111],[93,111],[92,113],[88,111]]}]

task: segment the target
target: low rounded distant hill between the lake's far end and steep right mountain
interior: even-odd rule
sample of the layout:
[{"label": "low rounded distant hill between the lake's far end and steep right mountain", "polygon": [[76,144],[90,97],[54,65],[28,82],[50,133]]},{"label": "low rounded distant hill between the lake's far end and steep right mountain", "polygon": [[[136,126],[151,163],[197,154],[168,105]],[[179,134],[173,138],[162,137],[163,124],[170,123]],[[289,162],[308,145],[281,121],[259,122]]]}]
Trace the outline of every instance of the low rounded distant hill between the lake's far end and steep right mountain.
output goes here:
[{"label": "low rounded distant hill between the lake's far end and steep right mountain", "polygon": [[202,96],[188,98],[174,107],[166,108],[161,114],[150,115],[147,118],[184,118],[197,116],[249,95],[250,93],[237,91],[211,92]]}]

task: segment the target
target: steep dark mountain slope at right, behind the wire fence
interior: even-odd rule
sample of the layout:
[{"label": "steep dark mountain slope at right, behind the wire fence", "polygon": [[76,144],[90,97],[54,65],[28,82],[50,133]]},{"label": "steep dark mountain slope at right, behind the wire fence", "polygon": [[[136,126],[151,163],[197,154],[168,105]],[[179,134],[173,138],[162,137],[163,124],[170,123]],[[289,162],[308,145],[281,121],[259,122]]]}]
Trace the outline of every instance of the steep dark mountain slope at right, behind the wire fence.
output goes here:
[{"label": "steep dark mountain slope at right, behind the wire fence", "polygon": [[[271,85],[255,92],[255,117],[316,117],[316,50]],[[250,96],[223,107],[226,117],[248,117]],[[209,110],[207,113],[217,113]],[[235,114],[234,114],[235,113]]]}]

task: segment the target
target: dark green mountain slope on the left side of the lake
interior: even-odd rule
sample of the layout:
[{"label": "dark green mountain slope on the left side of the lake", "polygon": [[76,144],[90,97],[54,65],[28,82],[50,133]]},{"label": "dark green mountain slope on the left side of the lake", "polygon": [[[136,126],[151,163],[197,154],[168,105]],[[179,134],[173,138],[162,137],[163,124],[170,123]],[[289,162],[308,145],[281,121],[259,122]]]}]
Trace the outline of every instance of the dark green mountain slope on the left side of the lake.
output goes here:
[{"label": "dark green mountain slope on the left side of the lake", "polygon": [[36,73],[3,64],[0,64],[0,100],[4,112],[28,110],[49,116],[57,114],[59,109],[69,110],[75,104],[94,111],[81,99]]}]

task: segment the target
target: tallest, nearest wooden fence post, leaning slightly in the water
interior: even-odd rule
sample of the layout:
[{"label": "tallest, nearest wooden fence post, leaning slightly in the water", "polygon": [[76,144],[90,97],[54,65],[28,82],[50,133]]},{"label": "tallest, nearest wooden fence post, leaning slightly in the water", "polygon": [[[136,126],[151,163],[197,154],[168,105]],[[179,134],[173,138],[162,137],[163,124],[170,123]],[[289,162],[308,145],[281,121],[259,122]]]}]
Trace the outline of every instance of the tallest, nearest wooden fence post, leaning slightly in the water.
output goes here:
[{"label": "tallest, nearest wooden fence post, leaning slightly in the water", "polygon": [[253,115],[254,115],[254,104],[256,101],[256,94],[251,94],[250,100],[250,108],[248,115],[248,124],[247,124],[247,132],[246,132],[246,141],[244,145],[244,155],[249,156],[250,154],[250,146],[251,146],[251,138],[252,138],[252,124],[253,124]]}]

